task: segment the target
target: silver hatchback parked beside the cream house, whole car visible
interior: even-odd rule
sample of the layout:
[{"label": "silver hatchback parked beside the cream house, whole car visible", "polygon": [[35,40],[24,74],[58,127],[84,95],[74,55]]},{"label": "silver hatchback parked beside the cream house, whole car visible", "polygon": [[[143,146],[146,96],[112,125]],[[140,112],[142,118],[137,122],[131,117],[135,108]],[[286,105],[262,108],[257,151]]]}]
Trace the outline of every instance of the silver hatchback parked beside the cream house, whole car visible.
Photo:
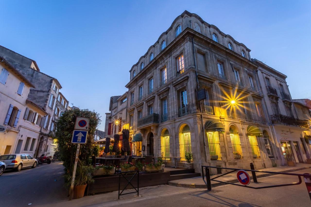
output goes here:
[{"label": "silver hatchback parked beside the cream house, whole car visible", "polygon": [[21,168],[35,168],[38,161],[29,154],[4,154],[0,156],[0,162],[6,164],[7,170],[20,171]]}]

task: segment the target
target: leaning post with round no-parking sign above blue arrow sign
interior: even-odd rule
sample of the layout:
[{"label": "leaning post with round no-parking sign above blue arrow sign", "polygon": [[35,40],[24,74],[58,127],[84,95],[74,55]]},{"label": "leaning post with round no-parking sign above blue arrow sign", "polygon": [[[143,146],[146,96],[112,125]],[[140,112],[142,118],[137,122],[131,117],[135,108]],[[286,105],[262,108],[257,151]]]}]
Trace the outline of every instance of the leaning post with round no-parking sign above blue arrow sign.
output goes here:
[{"label": "leaning post with round no-parking sign above blue arrow sign", "polygon": [[72,200],[72,195],[73,195],[73,186],[75,184],[80,144],[86,143],[89,123],[90,123],[90,119],[85,118],[85,117],[77,117],[76,123],[75,123],[75,130],[73,130],[73,133],[72,133],[71,143],[76,143],[78,145],[77,145],[77,152],[76,152],[76,158],[75,158],[75,165],[73,167],[73,172],[72,172],[71,186],[69,189],[69,200]]}]

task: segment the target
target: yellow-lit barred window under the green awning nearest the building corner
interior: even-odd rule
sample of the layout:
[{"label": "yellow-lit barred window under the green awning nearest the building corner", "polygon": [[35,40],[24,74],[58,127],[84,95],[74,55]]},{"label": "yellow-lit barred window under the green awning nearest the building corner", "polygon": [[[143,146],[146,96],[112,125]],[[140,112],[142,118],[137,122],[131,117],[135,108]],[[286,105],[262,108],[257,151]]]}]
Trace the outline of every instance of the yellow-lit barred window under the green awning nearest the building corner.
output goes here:
[{"label": "yellow-lit barred window under the green awning nearest the building corner", "polygon": [[206,132],[211,160],[221,160],[219,132]]}]

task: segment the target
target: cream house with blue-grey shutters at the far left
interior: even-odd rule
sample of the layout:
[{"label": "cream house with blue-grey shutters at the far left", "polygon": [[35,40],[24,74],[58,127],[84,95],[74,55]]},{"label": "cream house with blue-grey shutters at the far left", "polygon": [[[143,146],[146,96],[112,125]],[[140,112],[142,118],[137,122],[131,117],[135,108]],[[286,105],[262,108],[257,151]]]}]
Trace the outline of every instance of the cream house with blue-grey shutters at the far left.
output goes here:
[{"label": "cream house with blue-grey shutters at the far left", "polygon": [[34,156],[45,110],[28,99],[30,83],[16,68],[0,57],[0,155],[27,153]]}]

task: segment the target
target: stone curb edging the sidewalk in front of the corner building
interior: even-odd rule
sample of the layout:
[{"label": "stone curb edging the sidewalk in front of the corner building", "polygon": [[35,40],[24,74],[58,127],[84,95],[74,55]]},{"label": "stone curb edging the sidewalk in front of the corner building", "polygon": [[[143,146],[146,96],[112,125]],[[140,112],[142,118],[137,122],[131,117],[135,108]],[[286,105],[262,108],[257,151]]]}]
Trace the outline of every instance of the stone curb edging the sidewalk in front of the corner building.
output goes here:
[{"label": "stone curb edging the sidewalk in front of the corner building", "polygon": [[[306,170],[306,169],[310,169],[310,168],[311,168],[311,166],[310,167],[297,168],[297,169],[291,169],[291,170],[284,170],[284,171],[280,171],[278,173],[290,173],[290,172],[295,172],[295,171],[299,171],[299,170]],[[272,175],[277,175],[277,174],[265,173],[262,175],[258,175],[257,178],[269,177]],[[253,176],[250,176],[250,178],[253,179]],[[239,181],[238,181],[238,179],[234,179],[234,180],[229,180],[227,182],[236,183]],[[168,184],[170,186],[183,187],[183,188],[207,188],[205,184],[195,184],[195,183],[187,184],[187,183],[174,182],[174,181],[169,181]],[[223,186],[223,185],[226,185],[226,183],[216,182],[216,183],[211,184],[212,187]]]}]

